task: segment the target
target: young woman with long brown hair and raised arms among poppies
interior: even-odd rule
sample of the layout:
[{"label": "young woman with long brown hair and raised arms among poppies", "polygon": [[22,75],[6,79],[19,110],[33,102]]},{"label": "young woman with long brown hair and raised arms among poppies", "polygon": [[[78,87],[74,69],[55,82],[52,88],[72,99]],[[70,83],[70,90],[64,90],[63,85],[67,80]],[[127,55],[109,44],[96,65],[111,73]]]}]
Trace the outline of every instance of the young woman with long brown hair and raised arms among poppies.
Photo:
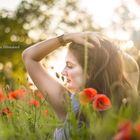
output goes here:
[{"label": "young woman with long brown hair and raised arms among poppies", "polygon": [[[70,43],[69,51],[66,66],[62,71],[67,83],[63,86],[42,68],[39,61],[67,43]],[[127,102],[135,100],[137,93],[127,94],[127,91],[133,90],[131,81],[136,81],[139,76],[137,65],[129,57],[136,73],[133,75],[130,72],[131,77],[135,78],[127,78],[127,65],[123,64],[122,55],[119,48],[99,33],[82,32],[64,34],[39,42],[23,52],[23,61],[35,85],[52,105],[58,117],[66,120],[67,112],[63,102],[66,100],[66,90],[77,93],[83,88],[92,87],[110,97],[117,106],[122,104],[124,98]],[[127,60],[128,57],[123,56]],[[127,79],[130,79],[130,82]],[[78,112],[79,104],[73,94],[72,103],[74,110]],[[55,132],[55,139],[65,139],[63,129]]]}]

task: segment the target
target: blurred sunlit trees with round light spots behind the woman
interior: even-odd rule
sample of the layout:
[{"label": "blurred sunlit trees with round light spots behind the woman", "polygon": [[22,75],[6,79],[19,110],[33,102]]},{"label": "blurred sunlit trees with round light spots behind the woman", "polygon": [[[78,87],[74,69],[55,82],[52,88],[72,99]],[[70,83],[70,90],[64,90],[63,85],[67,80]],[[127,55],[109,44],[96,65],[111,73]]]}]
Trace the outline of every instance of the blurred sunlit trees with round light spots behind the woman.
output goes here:
[{"label": "blurred sunlit trees with round light spots behind the woman", "polygon": [[[140,66],[140,14],[133,13],[130,5],[123,0],[114,8],[110,26],[102,27],[94,21],[88,10],[80,6],[80,2],[21,0],[15,10],[0,9],[1,86],[8,85],[14,89],[26,81],[26,70],[21,58],[25,48],[65,32],[100,31],[110,37],[118,34],[120,38],[116,38],[117,41],[124,44],[125,50]],[[135,4],[140,9],[140,1],[136,0]],[[127,39],[123,38],[125,34]]]}]

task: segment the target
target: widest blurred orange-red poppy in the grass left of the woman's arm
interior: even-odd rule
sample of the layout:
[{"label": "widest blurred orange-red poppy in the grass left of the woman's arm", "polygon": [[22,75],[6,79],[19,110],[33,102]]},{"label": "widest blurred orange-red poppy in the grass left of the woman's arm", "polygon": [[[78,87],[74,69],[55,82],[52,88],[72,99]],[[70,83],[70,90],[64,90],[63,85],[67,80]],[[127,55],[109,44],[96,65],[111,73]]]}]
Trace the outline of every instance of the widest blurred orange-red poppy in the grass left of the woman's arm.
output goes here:
[{"label": "widest blurred orange-red poppy in the grass left of the woman's arm", "polygon": [[18,90],[10,92],[8,97],[9,97],[9,99],[16,99],[17,100],[17,99],[22,98],[24,95],[25,95],[25,90],[18,89]]}]

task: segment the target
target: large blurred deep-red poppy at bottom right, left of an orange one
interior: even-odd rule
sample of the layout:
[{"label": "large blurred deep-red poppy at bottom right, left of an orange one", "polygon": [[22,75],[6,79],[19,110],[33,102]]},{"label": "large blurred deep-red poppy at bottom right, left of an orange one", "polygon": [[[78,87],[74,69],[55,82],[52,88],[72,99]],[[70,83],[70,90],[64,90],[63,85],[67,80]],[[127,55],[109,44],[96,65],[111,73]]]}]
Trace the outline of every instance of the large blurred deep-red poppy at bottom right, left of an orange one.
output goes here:
[{"label": "large blurred deep-red poppy at bottom right, left of an orange one", "polygon": [[119,132],[113,140],[131,140],[132,138],[132,123],[130,121],[123,122],[119,125]]}]

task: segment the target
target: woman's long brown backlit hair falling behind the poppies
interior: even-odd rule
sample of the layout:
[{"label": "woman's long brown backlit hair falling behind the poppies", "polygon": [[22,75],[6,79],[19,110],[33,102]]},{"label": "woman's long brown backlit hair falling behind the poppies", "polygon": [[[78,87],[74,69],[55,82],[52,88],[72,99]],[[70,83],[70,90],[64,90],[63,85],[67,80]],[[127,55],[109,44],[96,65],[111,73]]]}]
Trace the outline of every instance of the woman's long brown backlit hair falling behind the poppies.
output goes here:
[{"label": "woman's long brown backlit hair falling behind the poppies", "polygon": [[85,56],[86,46],[84,45],[72,42],[69,50],[75,55],[83,69],[85,57],[87,58],[85,88],[93,87],[120,105],[124,98],[132,99],[133,97],[133,93],[130,93],[133,88],[125,76],[122,52],[108,39],[99,37],[99,34],[97,39],[100,46],[95,40],[88,40],[95,47],[87,49],[87,56]]}]

